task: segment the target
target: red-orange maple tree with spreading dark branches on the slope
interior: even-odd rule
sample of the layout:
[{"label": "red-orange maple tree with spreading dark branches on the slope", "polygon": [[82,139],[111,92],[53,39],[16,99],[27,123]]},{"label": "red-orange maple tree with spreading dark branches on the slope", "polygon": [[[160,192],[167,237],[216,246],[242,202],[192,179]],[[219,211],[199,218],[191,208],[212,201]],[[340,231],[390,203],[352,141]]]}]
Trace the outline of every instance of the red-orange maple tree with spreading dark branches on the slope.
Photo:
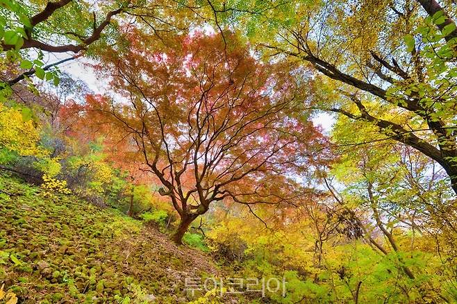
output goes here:
[{"label": "red-orange maple tree with spreading dark branches on the slope", "polygon": [[174,39],[173,48],[149,51],[150,38],[132,33],[128,52],[109,52],[103,62],[128,103],[101,96],[90,103],[135,142],[160,180],[181,217],[174,235],[181,243],[213,202],[291,199],[287,175],[319,164],[312,147],[322,137],[299,116],[288,69],[257,63],[235,36],[228,47],[218,35]]}]

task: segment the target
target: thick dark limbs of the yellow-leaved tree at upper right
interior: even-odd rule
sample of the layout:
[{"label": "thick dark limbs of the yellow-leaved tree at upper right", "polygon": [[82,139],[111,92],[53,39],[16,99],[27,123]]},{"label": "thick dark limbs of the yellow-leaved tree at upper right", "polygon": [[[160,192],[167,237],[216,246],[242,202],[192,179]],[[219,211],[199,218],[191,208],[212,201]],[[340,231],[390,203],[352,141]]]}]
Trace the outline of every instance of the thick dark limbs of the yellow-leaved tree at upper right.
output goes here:
[{"label": "thick dark limbs of the yellow-leaved tree at upper right", "polygon": [[[442,8],[435,0],[417,1],[421,3],[421,5],[424,7],[424,9],[427,11],[429,15],[433,15],[436,12],[442,10]],[[443,13],[444,17],[446,17],[447,19],[446,22],[444,22],[444,24],[440,25],[441,27],[438,26],[438,28],[440,29],[444,28],[444,26],[447,24],[454,24],[454,22],[448,17],[448,15],[446,15],[446,12],[443,11]],[[295,35],[297,37],[300,37],[301,33],[295,33]],[[457,29],[456,31],[449,33],[449,35],[447,35],[446,37],[446,40],[449,41],[454,37],[457,37]],[[306,39],[306,37],[302,37],[302,40],[306,41]],[[347,85],[351,85],[352,87],[355,87],[357,89],[363,90],[364,92],[377,96],[389,103],[392,103],[393,105],[413,112],[415,115],[418,115],[419,117],[424,119],[424,121],[427,122],[430,130],[437,137],[438,142],[440,142],[439,149],[436,148],[434,144],[430,144],[429,142],[426,142],[425,140],[422,140],[421,138],[417,137],[413,134],[413,132],[405,130],[399,124],[395,124],[392,121],[386,121],[383,119],[377,119],[375,117],[372,117],[365,110],[365,107],[363,107],[361,102],[354,100],[360,112],[362,112],[362,115],[353,115],[341,109],[329,109],[333,112],[340,112],[341,114],[346,115],[351,119],[372,121],[374,124],[376,124],[376,126],[378,126],[381,129],[383,133],[391,136],[392,139],[407,144],[408,146],[412,146],[418,151],[424,153],[424,155],[429,156],[444,168],[444,170],[446,171],[447,175],[451,180],[451,188],[457,194],[457,163],[455,162],[455,159],[457,158],[457,146],[455,139],[452,135],[447,135],[446,130],[444,130],[445,124],[443,121],[440,121],[439,119],[438,121],[436,121],[435,119],[433,119],[433,117],[431,117],[431,114],[433,114],[433,112],[431,113],[429,110],[426,110],[422,107],[420,100],[417,99],[417,96],[411,95],[408,98],[401,99],[400,101],[392,101],[388,98],[388,94],[383,89],[383,87],[374,85],[372,83],[368,83],[359,78],[356,78],[355,76],[351,76],[350,74],[345,73],[344,71],[339,69],[337,65],[327,62],[326,60],[319,58],[319,56],[313,54],[310,51],[310,49],[308,49],[307,45],[304,44],[304,42],[299,41],[297,43],[301,44],[299,46],[298,53],[284,51],[283,49],[279,49],[276,47],[272,47],[272,49],[277,49],[288,56],[293,56],[296,58],[300,58],[301,60],[304,60],[306,62],[310,62],[310,64],[313,65],[313,67],[317,71],[328,76],[329,78],[335,81],[346,83]],[[302,53],[301,51],[304,51],[304,53]],[[406,74],[405,71],[399,68],[397,63],[394,63],[394,65],[390,65],[390,63],[385,61],[383,58],[378,56],[373,51],[370,52],[372,53],[374,59],[380,62],[381,65],[383,65],[386,69],[392,71],[394,74],[397,74],[401,78],[409,78],[408,74]]]}]

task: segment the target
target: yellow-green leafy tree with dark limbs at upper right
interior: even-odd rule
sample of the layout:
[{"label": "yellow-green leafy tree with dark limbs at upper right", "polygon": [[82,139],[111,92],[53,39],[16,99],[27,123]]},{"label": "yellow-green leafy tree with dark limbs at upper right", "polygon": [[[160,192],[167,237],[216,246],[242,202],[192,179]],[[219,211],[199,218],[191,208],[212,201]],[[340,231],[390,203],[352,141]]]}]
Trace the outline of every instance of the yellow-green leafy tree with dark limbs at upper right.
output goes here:
[{"label": "yellow-green leafy tree with dark limbs at upper right", "polygon": [[369,121],[374,133],[438,162],[457,193],[456,24],[450,1],[443,3],[285,1],[259,12],[256,1],[214,1],[211,8],[213,22],[244,29],[265,60],[301,62],[299,76],[315,94],[310,108]]}]

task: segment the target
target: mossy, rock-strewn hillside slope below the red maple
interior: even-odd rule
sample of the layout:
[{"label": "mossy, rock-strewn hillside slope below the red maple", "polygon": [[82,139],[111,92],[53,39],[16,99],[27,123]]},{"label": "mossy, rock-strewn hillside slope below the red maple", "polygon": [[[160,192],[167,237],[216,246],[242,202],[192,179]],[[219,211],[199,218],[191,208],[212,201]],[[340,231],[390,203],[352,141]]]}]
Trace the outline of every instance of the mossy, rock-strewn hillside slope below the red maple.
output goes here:
[{"label": "mossy, rock-strewn hillside slope below the red maple", "polygon": [[186,303],[185,278],[219,274],[208,261],[117,210],[0,176],[0,286],[18,303]]}]

